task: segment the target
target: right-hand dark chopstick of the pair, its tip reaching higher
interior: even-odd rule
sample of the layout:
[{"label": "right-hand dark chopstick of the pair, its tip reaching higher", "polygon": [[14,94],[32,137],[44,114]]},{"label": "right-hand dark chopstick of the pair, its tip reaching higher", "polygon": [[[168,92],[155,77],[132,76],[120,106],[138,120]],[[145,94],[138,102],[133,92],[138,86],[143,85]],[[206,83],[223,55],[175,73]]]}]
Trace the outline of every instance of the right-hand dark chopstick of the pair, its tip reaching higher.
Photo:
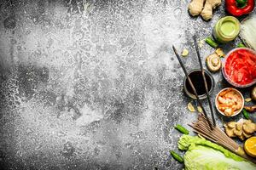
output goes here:
[{"label": "right-hand dark chopstick of the pair, its tip reaching higher", "polygon": [[195,35],[193,36],[193,39],[194,39],[194,43],[195,43],[196,54],[197,54],[197,57],[198,57],[198,60],[199,60],[199,63],[200,63],[200,67],[201,67],[201,75],[203,77],[205,88],[206,88],[207,100],[208,100],[210,111],[211,111],[212,122],[213,122],[213,126],[215,127],[216,126],[216,122],[215,122],[213,108],[212,108],[212,101],[210,99],[210,95],[209,95],[209,91],[208,91],[208,86],[207,86],[207,79],[206,79],[204,68],[203,68],[202,63],[201,63],[201,55],[200,55],[200,52],[199,52],[199,48],[198,48],[198,45],[197,45],[197,42],[196,42],[196,36]]}]

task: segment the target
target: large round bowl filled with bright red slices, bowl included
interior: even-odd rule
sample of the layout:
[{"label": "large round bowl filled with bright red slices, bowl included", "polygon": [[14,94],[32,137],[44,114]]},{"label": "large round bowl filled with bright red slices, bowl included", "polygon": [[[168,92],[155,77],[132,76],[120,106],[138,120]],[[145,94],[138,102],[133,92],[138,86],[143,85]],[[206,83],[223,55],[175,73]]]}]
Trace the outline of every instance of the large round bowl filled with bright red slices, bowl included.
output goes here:
[{"label": "large round bowl filled with bright red slices, bowl included", "polygon": [[237,88],[256,83],[256,52],[250,48],[235,48],[224,59],[222,73],[227,82]]}]

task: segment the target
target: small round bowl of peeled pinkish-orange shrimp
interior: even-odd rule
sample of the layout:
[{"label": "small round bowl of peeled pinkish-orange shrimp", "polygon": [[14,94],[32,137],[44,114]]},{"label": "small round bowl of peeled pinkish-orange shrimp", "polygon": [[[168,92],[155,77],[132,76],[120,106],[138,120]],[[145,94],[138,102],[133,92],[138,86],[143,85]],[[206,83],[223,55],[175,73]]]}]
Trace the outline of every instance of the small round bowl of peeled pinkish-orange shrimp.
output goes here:
[{"label": "small round bowl of peeled pinkish-orange shrimp", "polygon": [[244,106],[244,98],[236,88],[224,88],[216,95],[215,105],[223,116],[236,116]]}]

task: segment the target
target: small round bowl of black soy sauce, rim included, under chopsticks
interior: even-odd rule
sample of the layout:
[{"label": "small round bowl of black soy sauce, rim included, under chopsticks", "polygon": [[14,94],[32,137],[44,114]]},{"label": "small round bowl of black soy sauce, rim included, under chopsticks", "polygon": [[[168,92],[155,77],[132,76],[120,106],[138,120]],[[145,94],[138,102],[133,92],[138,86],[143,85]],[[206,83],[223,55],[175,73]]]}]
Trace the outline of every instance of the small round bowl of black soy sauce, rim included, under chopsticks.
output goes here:
[{"label": "small round bowl of black soy sauce, rim included, under chopsticks", "polygon": [[[214,79],[209,71],[207,70],[204,70],[204,71],[205,71],[205,76],[207,80],[207,88],[208,88],[209,94],[212,94],[212,91],[214,88]],[[195,87],[195,90],[196,90],[196,93],[198,94],[199,99],[206,99],[207,94],[206,94],[204,80],[201,75],[201,69],[192,70],[188,73],[188,75],[191,82],[193,82],[193,85]],[[184,93],[189,96],[189,98],[196,99],[193,89],[191,88],[187,77],[184,77],[184,80],[183,80],[183,90],[184,90]]]}]

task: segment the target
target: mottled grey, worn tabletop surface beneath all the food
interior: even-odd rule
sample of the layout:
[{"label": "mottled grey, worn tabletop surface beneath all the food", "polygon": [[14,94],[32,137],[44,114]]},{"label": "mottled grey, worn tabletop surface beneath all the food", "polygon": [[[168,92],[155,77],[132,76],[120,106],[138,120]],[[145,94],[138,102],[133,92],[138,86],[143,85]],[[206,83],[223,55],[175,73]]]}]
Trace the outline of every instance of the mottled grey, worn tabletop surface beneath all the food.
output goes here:
[{"label": "mottled grey, worn tabletop surface beneath all the food", "polygon": [[[182,169],[173,126],[196,113],[171,47],[198,68],[192,35],[225,15],[222,4],[209,22],[192,18],[188,3],[2,0],[1,169]],[[226,86],[213,77],[212,99]]]}]

